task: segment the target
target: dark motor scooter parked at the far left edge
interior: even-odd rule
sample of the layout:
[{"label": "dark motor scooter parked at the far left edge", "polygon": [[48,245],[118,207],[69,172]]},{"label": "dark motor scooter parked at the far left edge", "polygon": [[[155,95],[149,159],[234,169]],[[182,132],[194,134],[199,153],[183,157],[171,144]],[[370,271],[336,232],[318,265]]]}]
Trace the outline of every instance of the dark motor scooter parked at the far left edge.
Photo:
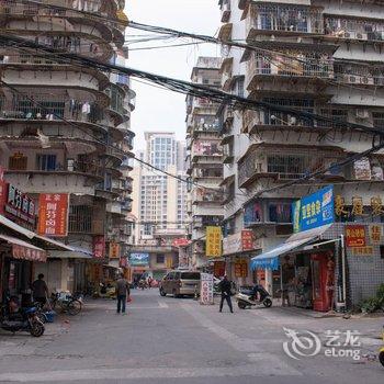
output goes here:
[{"label": "dark motor scooter parked at the far left edge", "polygon": [[5,298],[0,314],[0,328],[12,334],[30,332],[34,337],[41,337],[45,331],[44,324],[38,319],[37,308],[20,308],[16,297]]}]

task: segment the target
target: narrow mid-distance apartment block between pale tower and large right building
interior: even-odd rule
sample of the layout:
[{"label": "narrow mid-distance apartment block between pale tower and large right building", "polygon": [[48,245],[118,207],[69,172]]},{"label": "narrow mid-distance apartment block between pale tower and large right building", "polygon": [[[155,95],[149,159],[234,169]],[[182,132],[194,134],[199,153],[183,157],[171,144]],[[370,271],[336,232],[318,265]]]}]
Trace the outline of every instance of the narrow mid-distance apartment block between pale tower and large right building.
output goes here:
[{"label": "narrow mid-distance apartment block between pale tower and large right building", "polygon": [[[199,57],[191,80],[219,89],[222,59]],[[205,230],[207,226],[222,224],[223,219],[223,149],[217,111],[219,105],[208,99],[187,97],[187,162],[190,176],[189,246],[190,267],[208,266],[205,256]]]}]

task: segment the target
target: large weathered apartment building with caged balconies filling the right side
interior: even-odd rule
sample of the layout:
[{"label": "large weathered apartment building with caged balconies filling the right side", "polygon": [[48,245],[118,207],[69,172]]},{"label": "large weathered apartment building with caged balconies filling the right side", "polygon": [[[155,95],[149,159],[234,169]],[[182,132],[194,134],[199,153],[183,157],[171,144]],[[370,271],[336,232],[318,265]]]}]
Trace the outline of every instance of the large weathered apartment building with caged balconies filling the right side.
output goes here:
[{"label": "large weathered apartment building with caged balconies filling the right side", "polygon": [[[338,120],[383,127],[384,7],[353,0],[222,0],[219,7],[219,37],[255,46],[241,50],[223,45],[223,89],[329,118],[273,108],[221,109],[225,241],[240,244],[245,229],[253,235],[250,249],[229,247],[227,272],[240,284],[258,280],[275,290],[283,285],[279,270],[252,271],[249,259],[292,235],[297,199],[334,185],[334,236],[345,234],[347,223],[383,223],[383,151],[332,165],[373,143],[372,134],[349,129]],[[279,189],[323,169],[327,171]],[[247,273],[237,273],[238,260],[247,263]],[[372,247],[365,262],[348,248],[348,262],[349,295],[355,304],[374,294],[383,279],[382,246]]]}]

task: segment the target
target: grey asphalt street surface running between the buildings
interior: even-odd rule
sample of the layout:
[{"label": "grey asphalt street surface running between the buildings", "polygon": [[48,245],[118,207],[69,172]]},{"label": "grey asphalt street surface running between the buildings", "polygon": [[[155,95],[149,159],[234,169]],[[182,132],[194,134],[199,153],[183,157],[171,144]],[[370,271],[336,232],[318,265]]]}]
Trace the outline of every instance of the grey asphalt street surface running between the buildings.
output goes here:
[{"label": "grey asphalt street surface running between the buildings", "polygon": [[[327,330],[340,331],[342,342],[349,330],[360,334],[353,343],[361,346],[348,343],[336,348],[337,353],[340,349],[376,352],[383,318],[315,319],[278,307],[236,308],[235,314],[225,308],[219,314],[217,305],[160,297],[157,290],[134,292],[127,316],[116,315],[114,305],[88,302],[82,315],[49,325],[39,339],[1,332],[0,383],[384,382],[384,368],[377,361],[325,355]],[[306,334],[310,340],[286,345],[290,358],[283,349],[290,341],[284,327],[309,330],[320,345],[314,341],[312,349],[306,348],[313,338]],[[305,357],[295,353],[295,346]]]}]

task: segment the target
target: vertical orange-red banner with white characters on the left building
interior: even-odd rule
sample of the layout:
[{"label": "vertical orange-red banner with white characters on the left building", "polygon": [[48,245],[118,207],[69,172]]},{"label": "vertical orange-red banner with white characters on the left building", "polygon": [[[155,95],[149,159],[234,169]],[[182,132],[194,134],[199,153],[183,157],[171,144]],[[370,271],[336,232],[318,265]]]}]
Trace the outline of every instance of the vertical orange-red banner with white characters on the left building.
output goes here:
[{"label": "vertical orange-red banner with white characters on the left building", "polygon": [[39,235],[66,237],[68,235],[68,205],[67,193],[41,193],[38,199]]}]

